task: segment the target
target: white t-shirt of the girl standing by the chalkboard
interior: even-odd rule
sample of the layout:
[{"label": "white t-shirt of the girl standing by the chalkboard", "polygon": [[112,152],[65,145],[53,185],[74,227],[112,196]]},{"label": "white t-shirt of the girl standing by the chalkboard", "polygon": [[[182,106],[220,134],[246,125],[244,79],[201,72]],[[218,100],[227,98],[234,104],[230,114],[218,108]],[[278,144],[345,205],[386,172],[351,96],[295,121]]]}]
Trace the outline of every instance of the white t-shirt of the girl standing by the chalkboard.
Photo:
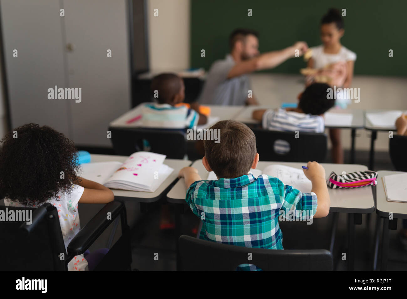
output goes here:
[{"label": "white t-shirt of the girl standing by the chalkboard", "polygon": [[327,64],[337,63],[340,61],[355,61],[356,53],[348,48],[341,46],[337,54],[324,53],[324,45],[311,47],[314,68],[323,68]]}]

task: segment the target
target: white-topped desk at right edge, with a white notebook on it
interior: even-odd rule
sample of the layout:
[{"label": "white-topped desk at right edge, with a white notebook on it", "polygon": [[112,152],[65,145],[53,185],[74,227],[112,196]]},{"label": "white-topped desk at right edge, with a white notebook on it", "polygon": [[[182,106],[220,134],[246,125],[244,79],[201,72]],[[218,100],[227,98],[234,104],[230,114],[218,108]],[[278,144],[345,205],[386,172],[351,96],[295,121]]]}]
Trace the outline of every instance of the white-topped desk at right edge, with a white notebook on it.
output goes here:
[{"label": "white-topped desk at right edge, with a white notebook on it", "polygon": [[[377,172],[377,186],[376,186],[376,213],[383,218],[383,235],[382,235],[382,246],[381,246],[381,271],[386,271],[387,269],[387,255],[389,251],[389,220],[390,213],[393,213],[393,219],[402,218],[407,219],[407,203],[398,203],[387,201],[386,194],[384,191],[382,177],[386,175],[395,175],[398,173],[405,173],[400,171],[387,171],[380,170]],[[407,182],[405,182],[407,185]],[[379,218],[377,219],[379,221]],[[379,222],[376,223],[375,229],[375,247],[374,247],[374,265],[373,269],[376,270],[377,256],[379,249]]]}]

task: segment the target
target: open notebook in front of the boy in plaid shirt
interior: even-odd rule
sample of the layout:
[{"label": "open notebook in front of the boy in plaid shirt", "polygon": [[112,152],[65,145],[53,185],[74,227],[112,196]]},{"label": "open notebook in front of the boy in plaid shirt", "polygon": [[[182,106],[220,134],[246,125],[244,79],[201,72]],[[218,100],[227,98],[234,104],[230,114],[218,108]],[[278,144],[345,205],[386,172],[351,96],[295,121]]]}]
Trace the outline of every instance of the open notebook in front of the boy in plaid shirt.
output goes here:
[{"label": "open notebook in front of the boy in plaid shirt", "polygon": [[[250,172],[255,178],[262,174],[276,177],[285,185],[290,185],[303,193],[309,193],[312,189],[312,183],[306,178],[302,169],[280,164],[271,164],[266,166],[263,171],[258,169],[250,169],[249,173]],[[213,171],[209,172],[208,180],[217,180],[217,177]]]}]

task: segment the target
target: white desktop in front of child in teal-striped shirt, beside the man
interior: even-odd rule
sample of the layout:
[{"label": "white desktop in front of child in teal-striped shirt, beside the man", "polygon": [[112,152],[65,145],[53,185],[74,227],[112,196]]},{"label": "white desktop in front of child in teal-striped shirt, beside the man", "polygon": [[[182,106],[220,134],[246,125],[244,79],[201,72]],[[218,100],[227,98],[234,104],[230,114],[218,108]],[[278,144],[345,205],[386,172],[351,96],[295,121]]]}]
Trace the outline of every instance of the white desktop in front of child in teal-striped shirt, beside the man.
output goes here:
[{"label": "white desktop in front of child in teal-striped shirt, beside the man", "polygon": [[[147,103],[141,103],[137,107],[134,107],[130,111],[127,111],[124,113],[122,116],[119,116],[112,122],[110,122],[109,127],[112,128],[138,128],[140,127],[140,120],[131,122],[127,124],[126,122],[128,120],[131,120],[135,118],[136,116],[141,115],[142,107],[146,104],[151,104],[149,102]],[[206,105],[210,107],[210,115],[214,117],[218,117],[219,120],[229,120],[229,119],[234,119],[243,109],[244,106],[221,106],[221,105]],[[200,127],[205,127],[205,125],[202,125]]]}]

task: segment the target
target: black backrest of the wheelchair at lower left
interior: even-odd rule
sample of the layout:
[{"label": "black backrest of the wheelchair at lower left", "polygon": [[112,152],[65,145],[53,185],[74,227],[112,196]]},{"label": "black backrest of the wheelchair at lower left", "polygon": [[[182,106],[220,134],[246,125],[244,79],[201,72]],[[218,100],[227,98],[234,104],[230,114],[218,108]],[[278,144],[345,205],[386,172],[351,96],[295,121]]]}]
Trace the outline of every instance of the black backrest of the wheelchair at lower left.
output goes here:
[{"label": "black backrest of the wheelchair at lower left", "polygon": [[[11,218],[11,215],[14,215]],[[38,208],[0,205],[1,271],[68,271],[58,212],[50,203]],[[29,220],[31,224],[27,224]],[[64,254],[64,260],[59,258]]]}]

